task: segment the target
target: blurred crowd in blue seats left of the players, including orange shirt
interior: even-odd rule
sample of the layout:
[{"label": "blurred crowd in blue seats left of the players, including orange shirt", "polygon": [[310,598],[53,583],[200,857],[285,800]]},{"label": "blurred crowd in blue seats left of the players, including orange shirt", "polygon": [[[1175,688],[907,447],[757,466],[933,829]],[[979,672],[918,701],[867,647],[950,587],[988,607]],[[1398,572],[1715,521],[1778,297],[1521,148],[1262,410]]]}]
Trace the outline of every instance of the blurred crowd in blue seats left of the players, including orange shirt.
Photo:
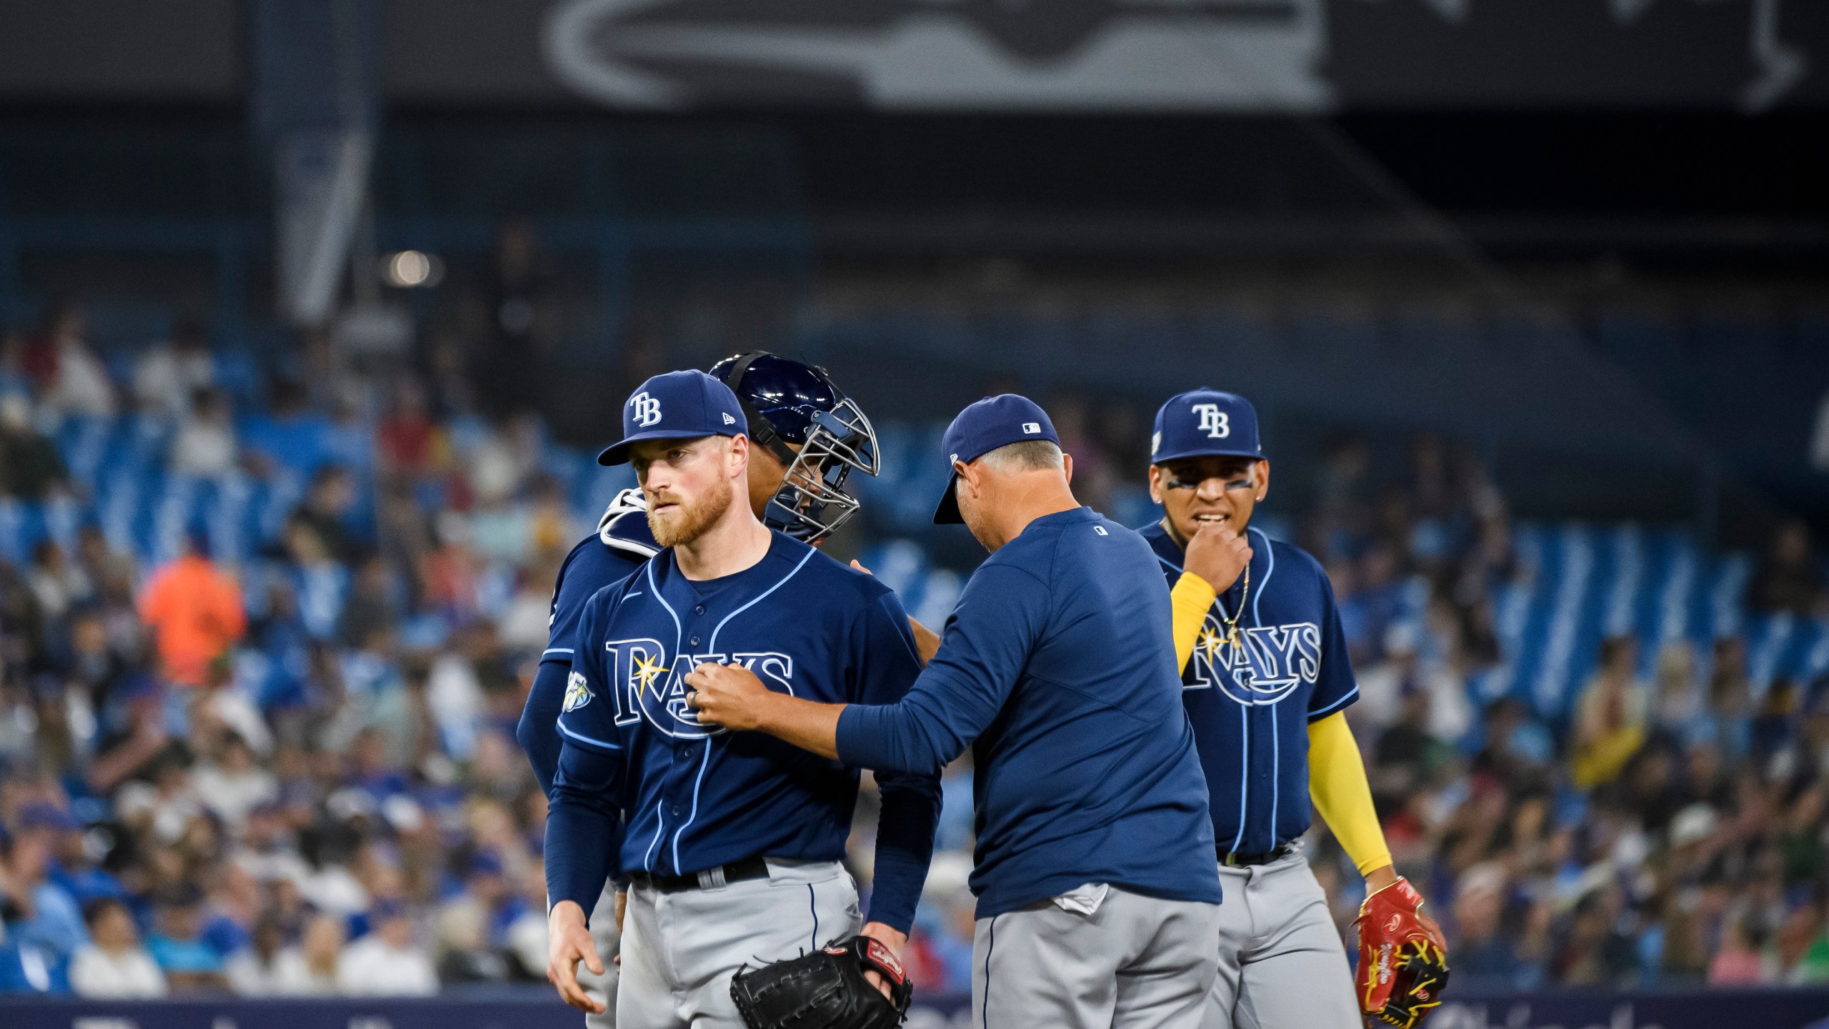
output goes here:
[{"label": "blurred crowd in blue seats left of the players, including orange shirt", "polygon": [[[487,357],[487,355],[485,355]],[[541,423],[448,341],[307,337],[236,403],[199,324],[110,370],[80,309],[0,344],[0,991],[428,994],[543,981],[545,798],[512,740],[574,518]],[[110,538],[60,452],[132,419],[163,476],[296,483],[229,557]],[[276,496],[287,491],[273,489]]]}]

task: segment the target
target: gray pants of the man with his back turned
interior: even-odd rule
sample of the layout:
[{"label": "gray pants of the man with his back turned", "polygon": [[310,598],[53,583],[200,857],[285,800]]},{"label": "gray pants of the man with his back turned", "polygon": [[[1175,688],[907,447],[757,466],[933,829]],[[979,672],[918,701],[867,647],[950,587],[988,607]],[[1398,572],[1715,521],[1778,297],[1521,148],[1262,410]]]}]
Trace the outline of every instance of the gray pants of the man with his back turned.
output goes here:
[{"label": "gray pants of the man with his back turned", "polygon": [[975,1029],[1198,1029],[1220,906],[1081,886],[971,941]]}]

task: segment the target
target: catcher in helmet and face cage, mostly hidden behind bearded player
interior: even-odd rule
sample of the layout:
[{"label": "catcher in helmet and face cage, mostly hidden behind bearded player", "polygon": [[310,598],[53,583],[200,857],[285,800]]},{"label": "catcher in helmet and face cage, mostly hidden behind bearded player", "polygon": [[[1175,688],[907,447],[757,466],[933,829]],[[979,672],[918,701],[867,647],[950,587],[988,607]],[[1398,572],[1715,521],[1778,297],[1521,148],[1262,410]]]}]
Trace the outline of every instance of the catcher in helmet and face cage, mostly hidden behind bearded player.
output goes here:
[{"label": "catcher in helmet and face cage, mostly hidden behind bearded player", "polygon": [[[768,527],[818,546],[858,511],[858,502],[845,493],[849,472],[878,472],[871,421],[823,370],[799,361],[755,350],[719,361],[710,374],[737,394],[754,432],[746,483],[750,509]],[[551,795],[558,771],[556,721],[572,670],[571,637],[578,615],[598,590],[627,579],[658,551],[642,491],[626,489],[611,500],[596,531],[578,542],[560,566],[547,648],[514,731],[543,793]],[[918,641],[931,637],[918,626],[914,634]],[[602,956],[616,954],[620,917],[615,897],[616,890],[607,888],[591,915]],[[602,1014],[587,1016],[587,1025],[615,1025],[616,967],[609,965],[602,978],[582,978],[605,1007]]]}]

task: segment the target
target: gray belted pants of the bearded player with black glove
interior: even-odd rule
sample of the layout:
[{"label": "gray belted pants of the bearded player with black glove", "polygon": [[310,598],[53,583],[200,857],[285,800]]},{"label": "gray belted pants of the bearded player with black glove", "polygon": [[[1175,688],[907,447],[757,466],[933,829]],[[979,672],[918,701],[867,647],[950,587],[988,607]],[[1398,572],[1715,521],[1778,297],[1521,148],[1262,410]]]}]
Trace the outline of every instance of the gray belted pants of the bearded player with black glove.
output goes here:
[{"label": "gray belted pants of the bearded player with black glove", "polygon": [[768,879],[662,894],[629,886],[618,1029],[744,1029],[730,976],[799,958],[863,928],[858,884],[836,861],[779,862]]}]

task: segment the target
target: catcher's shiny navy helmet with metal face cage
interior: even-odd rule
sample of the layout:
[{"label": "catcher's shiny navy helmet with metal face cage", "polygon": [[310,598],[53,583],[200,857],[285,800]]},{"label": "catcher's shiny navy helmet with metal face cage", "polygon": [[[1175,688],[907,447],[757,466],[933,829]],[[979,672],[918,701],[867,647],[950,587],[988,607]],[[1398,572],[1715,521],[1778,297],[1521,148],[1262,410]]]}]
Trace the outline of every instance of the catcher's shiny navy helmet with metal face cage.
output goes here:
[{"label": "catcher's shiny navy helmet with metal face cage", "polygon": [[845,480],[852,471],[882,471],[876,428],[825,368],[752,350],[713,364],[711,377],[737,394],[750,441],[768,447],[786,467],[781,489],[763,509],[770,529],[818,546],[858,513]]}]

